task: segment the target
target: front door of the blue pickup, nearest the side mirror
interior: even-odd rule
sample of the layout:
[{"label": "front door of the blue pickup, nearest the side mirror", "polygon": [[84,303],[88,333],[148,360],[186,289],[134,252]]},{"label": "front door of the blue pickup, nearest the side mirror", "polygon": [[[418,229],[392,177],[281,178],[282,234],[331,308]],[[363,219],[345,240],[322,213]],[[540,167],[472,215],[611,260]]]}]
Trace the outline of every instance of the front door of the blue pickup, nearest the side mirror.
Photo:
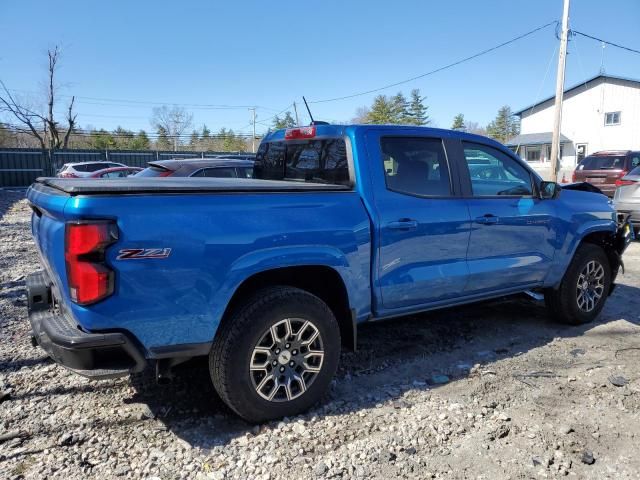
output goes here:
[{"label": "front door of the blue pickup, nearest the side mirror", "polygon": [[461,180],[472,222],[465,293],[540,284],[553,260],[554,202],[536,197],[531,172],[507,152],[458,145],[452,155],[464,159]]}]

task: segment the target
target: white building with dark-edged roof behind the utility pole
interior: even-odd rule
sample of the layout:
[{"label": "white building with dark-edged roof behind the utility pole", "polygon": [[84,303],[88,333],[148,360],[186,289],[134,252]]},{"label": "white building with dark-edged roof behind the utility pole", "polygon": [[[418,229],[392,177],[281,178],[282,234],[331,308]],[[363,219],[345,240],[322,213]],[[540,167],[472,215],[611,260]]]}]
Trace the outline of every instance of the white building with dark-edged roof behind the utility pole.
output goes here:
[{"label": "white building with dark-edged roof behind the utility pole", "polygon": [[[540,173],[550,168],[555,97],[515,112],[520,135],[507,145]],[[601,150],[640,150],[640,80],[597,75],[564,92],[561,170]]]}]

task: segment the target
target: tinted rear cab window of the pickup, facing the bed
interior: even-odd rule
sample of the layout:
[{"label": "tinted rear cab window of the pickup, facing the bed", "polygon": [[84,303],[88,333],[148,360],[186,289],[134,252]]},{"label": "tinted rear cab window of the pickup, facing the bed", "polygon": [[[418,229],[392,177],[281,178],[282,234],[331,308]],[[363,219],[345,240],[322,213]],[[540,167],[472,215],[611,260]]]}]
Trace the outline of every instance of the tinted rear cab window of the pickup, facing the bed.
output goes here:
[{"label": "tinted rear cab window of the pickup, facing the bed", "polygon": [[344,139],[262,143],[254,178],[350,185]]}]

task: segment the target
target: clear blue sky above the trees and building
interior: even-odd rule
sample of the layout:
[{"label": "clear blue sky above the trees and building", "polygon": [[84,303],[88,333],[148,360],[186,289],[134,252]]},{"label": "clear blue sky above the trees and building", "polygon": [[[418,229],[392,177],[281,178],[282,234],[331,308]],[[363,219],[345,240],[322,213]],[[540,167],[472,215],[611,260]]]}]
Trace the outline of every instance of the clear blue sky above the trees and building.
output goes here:
[{"label": "clear blue sky above the trees and building", "polygon": [[[352,95],[429,72],[559,20],[562,0],[169,2],[0,1],[0,80],[42,98],[46,50],[59,45],[61,95],[82,128],[151,130],[152,108],[183,105],[195,128],[257,132],[297,102]],[[640,0],[573,0],[571,28],[640,49]],[[555,90],[555,27],[480,58],[378,93],[420,89],[433,125],[463,113],[485,125]],[[640,55],[574,37],[566,85],[596,75],[640,79]],[[348,122],[377,93],[311,103],[316,120]],[[64,111],[67,97],[61,97]],[[219,106],[225,106],[221,108]],[[6,117],[5,117],[6,120]]]}]

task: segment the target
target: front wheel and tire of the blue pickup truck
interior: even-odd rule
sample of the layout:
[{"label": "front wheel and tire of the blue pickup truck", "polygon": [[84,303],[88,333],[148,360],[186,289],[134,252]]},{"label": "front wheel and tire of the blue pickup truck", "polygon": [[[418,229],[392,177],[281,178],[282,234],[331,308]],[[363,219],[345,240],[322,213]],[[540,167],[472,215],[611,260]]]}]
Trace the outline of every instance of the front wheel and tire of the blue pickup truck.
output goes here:
[{"label": "front wheel and tire of the blue pickup truck", "polygon": [[545,291],[547,311],[570,325],[593,321],[611,289],[611,266],[604,250],[590,243],[578,247],[558,289]]}]

